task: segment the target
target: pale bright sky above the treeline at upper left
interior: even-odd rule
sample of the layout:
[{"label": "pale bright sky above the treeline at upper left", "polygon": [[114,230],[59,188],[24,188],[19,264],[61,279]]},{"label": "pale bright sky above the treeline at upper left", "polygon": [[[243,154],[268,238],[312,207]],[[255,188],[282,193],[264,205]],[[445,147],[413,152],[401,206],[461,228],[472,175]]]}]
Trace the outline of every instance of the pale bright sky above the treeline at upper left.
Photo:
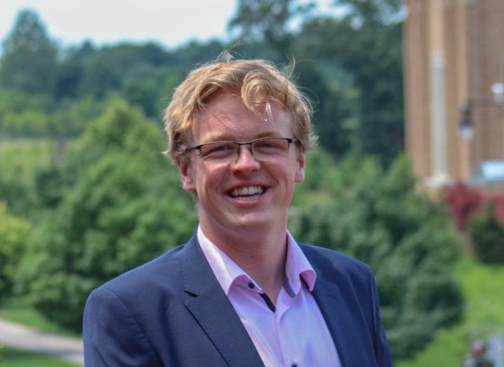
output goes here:
[{"label": "pale bright sky above the treeline at upper left", "polygon": [[[328,11],[329,0],[319,0]],[[225,40],[236,0],[0,0],[0,40],[8,36],[18,11],[32,8],[51,38],[68,46],[157,41],[175,48],[190,39]]]}]

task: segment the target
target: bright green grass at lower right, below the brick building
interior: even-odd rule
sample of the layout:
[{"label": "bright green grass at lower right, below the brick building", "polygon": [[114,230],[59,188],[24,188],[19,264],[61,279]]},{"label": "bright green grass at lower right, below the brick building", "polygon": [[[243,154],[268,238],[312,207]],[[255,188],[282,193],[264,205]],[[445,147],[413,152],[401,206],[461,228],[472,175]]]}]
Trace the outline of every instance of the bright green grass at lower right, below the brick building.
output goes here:
[{"label": "bright green grass at lower right, below the brick building", "polygon": [[400,361],[394,366],[459,367],[472,338],[504,332],[504,266],[482,265],[467,256],[458,262],[454,271],[466,300],[463,321],[439,332],[416,359]]}]

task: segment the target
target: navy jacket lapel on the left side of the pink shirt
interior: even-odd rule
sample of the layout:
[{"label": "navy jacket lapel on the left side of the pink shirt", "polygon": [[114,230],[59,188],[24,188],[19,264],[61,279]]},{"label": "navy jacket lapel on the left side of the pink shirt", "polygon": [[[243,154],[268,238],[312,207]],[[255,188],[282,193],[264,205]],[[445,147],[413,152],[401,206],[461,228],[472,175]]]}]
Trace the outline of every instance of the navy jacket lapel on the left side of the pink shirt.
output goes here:
[{"label": "navy jacket lapel on the left side of the pink shirt", "polygon": [[196,234],[181,260],[187,309],[230,366],[264,366],[251,338],[199,247]]}]

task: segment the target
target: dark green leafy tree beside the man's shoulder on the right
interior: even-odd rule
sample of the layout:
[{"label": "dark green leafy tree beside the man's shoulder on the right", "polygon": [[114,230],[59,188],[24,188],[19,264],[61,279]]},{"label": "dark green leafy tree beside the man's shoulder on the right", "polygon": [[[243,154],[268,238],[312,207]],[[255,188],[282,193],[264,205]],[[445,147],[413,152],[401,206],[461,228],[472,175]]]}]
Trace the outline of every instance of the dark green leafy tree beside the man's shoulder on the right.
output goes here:
[{"label": "dark green leafy tree beside the man's shoulder on the right", "polygon": [[449,214],[415,191],[404,157],[384,172],[376,160],[350,156],[331,178],[325,202],[293,211],[293,233],[371,266],[392,355],[411,357],[462,314],[449,272],[460,248]]}]

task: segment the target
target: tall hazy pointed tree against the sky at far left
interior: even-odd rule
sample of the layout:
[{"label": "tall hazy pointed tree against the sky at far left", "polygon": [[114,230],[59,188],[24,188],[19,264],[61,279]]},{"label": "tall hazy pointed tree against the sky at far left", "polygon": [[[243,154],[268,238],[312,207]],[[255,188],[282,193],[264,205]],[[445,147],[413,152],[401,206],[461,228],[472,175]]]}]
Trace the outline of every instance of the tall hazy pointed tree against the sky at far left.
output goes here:
[{"label": "tall hazy pointed tree against the sky at far left", "polygon": [[1,86],[29,93],[53,91],[57,54],[58,47],[48,37],[39,15],[20,11],[3,44]]}]

